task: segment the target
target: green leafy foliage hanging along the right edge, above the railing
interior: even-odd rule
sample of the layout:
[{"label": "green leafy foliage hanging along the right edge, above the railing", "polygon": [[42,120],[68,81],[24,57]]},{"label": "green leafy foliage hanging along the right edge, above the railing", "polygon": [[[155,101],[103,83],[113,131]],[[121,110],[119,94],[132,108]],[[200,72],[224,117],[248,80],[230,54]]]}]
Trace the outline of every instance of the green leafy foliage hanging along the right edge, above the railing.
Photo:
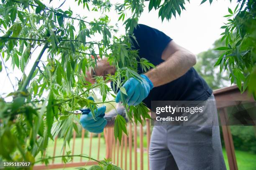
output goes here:
[{"label": "green leafy foliage hanging along the right edge, above the railing", "polygon": [[231,84],[236,83],[243,93],[247,87],[256,99],[256,1],[238,0],[234,10],[228,8],[226,23],[221,28],[221,41],[225,46],[216,50],[224,51],[216,62],[220,72],[230,72]]}]

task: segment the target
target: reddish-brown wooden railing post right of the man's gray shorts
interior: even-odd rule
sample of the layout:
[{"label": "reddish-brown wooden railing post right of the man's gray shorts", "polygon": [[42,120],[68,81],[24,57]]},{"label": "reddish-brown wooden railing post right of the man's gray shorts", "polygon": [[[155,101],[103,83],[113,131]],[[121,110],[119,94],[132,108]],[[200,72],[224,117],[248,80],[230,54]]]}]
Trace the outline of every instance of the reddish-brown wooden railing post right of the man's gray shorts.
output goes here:
[{"label": "reddish-brown wooden railing post right of the man's gray shorts", "polygon": [[221,122],[221,127],[223,132],[223,138],[225,142],[225,148],[228,155],[229,168],[230,170],[238,170],[232,134],[230,132],[229,126],[226,123],[227,122],[226,109],[225,108],[219,109],[219,112],[220,112],[220,122]]}]

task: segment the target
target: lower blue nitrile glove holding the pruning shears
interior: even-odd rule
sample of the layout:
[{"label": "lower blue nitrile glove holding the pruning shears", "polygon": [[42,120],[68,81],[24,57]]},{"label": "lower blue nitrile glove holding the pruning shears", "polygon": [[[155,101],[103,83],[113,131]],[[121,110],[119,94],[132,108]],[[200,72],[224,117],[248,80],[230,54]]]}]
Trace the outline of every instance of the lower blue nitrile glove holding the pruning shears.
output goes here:
[{"label": "lower blue nitrile glove holding the pruning shears", "polygon": [[[89,100],[94,99],[88,97]],[[88,109],[80,109],[82,111],[82,116],[80,118],[80,123],[84,129],[87,129],[92,133],[101,133],[103,132],[104,127],[107,125],[107,120],[104,118],[106,106],[99,107],[97,111],[95,110],[95,119],[92,117],[92,112],[87,112]]]}]

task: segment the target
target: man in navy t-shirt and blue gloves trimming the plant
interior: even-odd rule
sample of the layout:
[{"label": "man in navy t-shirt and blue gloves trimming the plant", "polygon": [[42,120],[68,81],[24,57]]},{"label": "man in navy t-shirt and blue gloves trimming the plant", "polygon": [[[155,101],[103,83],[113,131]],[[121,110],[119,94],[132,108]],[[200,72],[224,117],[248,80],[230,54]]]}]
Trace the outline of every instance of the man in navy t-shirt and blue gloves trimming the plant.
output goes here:
[{"label": "man in navy t-shirt and blue gloves trimming the plant", "polygon": [[[146,58],[156,68],[142,73],[143,81],[131,78],[125,82],[128,105],[143,101],[151,109],[151,101],[214,101],[212,90],[192,67],[196,57],[187,49],[176,44],[163,32],[139,24],[134,30],[136,41],[133,46],[141,58]],[[115,68],[103,60],[97,64],[95,75],[114,74]],[[87,80],[94,83],[92,72]],[[120,102],[120,91],[116,102]],[[225,170],[216,107],[205,108],[209,122],[207,126],[154,126],[149,151],[151,170]],[[102,132],[107,121],[97,112],[97,119],[90,114],[81,117],[81,124],[91,132]],[[95,130],[96,129],[96,130]]]}]

